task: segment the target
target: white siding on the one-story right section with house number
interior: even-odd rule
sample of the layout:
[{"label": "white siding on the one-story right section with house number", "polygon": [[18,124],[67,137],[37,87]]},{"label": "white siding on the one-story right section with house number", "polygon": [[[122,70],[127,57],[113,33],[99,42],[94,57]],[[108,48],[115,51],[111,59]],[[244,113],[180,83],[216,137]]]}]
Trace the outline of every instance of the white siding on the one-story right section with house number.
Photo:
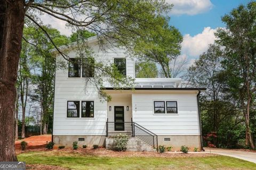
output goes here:
[{"label": "white siding on the one-story right section with house number", "polygon": [[[200,135],[197,92],[132,94],[133,121],[157,135]],[[177,101],[178,114],[154,114],[154,101]]]}]

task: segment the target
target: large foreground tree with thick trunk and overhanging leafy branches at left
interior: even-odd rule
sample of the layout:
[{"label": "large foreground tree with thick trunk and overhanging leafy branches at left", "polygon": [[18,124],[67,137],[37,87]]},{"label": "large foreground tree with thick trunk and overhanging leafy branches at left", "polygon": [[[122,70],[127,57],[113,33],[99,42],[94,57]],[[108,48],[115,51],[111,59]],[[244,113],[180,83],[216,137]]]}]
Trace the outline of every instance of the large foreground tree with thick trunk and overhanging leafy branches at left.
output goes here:
[{"label": "large foreground tree with thick trunk and overhanging leafy branches at left", "polygon": [[0,1],[0,161],[17,160],[13,113],[25,21],[27,25],[34,24],[38,30],[41,29],[59,54],[69,60],[41,26],[39,15],[36,14],[51,15],[66,21],[69,27],[92,30],[101,43],[108,42],[132,49],[138,38],[158,25],[156,18],[169,9],[170,6],[164,1],[157,0]]}]

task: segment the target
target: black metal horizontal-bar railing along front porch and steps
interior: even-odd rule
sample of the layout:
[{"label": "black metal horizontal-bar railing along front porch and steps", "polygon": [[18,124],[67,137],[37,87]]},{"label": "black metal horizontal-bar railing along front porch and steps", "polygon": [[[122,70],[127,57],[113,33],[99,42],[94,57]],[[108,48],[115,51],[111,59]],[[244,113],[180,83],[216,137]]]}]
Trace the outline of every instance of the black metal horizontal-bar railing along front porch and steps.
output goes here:
[{"label": "black metal horizontal-bar railing along front porch and steps", "polygon": [[120,133],[135,137],[158,151],[157,135],[143,126],[131,122],[106,122],[106,136],[111,137]]}]

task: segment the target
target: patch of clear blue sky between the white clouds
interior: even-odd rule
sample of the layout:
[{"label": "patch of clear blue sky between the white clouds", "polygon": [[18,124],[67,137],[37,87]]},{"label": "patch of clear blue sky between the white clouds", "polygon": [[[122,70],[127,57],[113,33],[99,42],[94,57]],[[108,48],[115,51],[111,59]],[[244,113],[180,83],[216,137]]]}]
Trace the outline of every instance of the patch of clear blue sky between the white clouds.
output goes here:
[{"label": "patch of clear blue sky between the white clouds", "polygon": [[225,27],[225,24],[221,22],[221,16],[229,13],[238,5],[246,5],[249,2],[249,0],[211,0],[212,6],[209,11],[195,15],[171,14],[170,24],[178,28],[182,35],[195,36],[201,33],[204,27],[211,27],[212,29]]}]

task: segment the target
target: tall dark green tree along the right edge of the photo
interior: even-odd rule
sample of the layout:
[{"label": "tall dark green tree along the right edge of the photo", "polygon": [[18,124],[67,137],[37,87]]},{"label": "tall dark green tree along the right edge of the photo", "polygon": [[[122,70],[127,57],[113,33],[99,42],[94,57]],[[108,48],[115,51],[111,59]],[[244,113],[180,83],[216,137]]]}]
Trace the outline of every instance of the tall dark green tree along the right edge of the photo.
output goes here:
[{"label": "tall dark green tree along the right edge of the photo", "polygon": [[228,84],[239,102],[246,125],[246,145],[255,148],[250,113],[256,92],[256,2],[240,5],[222,17],[225,29],[218,29],[217,43],[225,48],[223,67]]}]

